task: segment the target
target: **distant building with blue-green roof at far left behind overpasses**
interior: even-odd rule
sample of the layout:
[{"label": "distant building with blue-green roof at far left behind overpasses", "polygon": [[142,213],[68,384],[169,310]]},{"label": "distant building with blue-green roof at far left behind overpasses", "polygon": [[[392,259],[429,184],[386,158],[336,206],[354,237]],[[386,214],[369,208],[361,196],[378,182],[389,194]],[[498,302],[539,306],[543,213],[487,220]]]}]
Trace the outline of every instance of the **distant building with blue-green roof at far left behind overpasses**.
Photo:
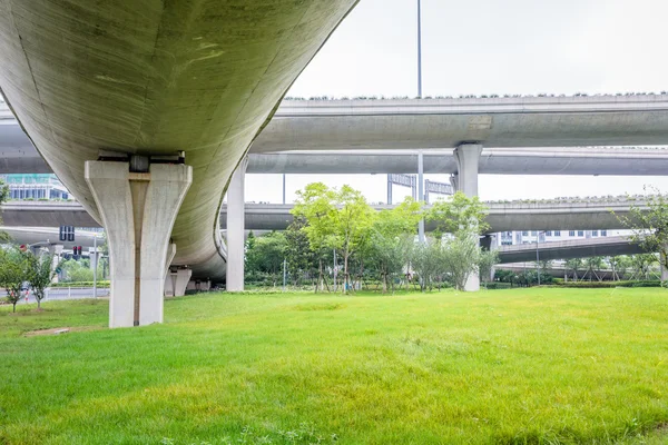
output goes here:
[{"label": "distant building with blue-green roof at far left behind overpasses", "polygon": [[16,200],[69,200],[73,199],[53,174],[1,175],[9,186],[9,199]]}]

